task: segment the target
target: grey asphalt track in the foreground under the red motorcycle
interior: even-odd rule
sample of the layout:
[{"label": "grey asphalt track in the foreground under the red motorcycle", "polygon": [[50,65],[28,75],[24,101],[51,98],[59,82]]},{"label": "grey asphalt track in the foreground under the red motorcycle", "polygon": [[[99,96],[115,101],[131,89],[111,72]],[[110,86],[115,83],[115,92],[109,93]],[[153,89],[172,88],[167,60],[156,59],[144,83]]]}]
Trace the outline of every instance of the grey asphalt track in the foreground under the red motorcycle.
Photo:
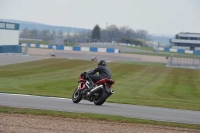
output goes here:
[{"label": "grey asphalt track in the foreground under the red motorcycle", "polygon": [[107,114],[128,118],[177,122],[200,125],[200,112],[127,104],[104,103],[96,106],[82,100],[75,104],[71,99],[0,93],[0,106],[42,109],[64,112]]}]

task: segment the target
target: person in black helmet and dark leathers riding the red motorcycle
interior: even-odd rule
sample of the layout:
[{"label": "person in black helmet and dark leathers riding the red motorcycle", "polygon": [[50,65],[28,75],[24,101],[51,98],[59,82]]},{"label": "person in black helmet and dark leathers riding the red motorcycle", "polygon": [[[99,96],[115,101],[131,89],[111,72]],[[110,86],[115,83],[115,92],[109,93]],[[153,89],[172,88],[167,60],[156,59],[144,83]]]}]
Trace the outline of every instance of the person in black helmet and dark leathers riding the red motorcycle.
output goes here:
[{"label": "person in black helmet and dark leathers riding the red motorcycle", "polygon": [[[99,72],[99,75],[95,74],[97,72]],[[106,66],[106,61],[100,60],[98,62],[98,66],[91,73],[89,73],[89,77],[93,82],[97,82],[103,78],[111,79],[112,73],[110,69]]]}]

